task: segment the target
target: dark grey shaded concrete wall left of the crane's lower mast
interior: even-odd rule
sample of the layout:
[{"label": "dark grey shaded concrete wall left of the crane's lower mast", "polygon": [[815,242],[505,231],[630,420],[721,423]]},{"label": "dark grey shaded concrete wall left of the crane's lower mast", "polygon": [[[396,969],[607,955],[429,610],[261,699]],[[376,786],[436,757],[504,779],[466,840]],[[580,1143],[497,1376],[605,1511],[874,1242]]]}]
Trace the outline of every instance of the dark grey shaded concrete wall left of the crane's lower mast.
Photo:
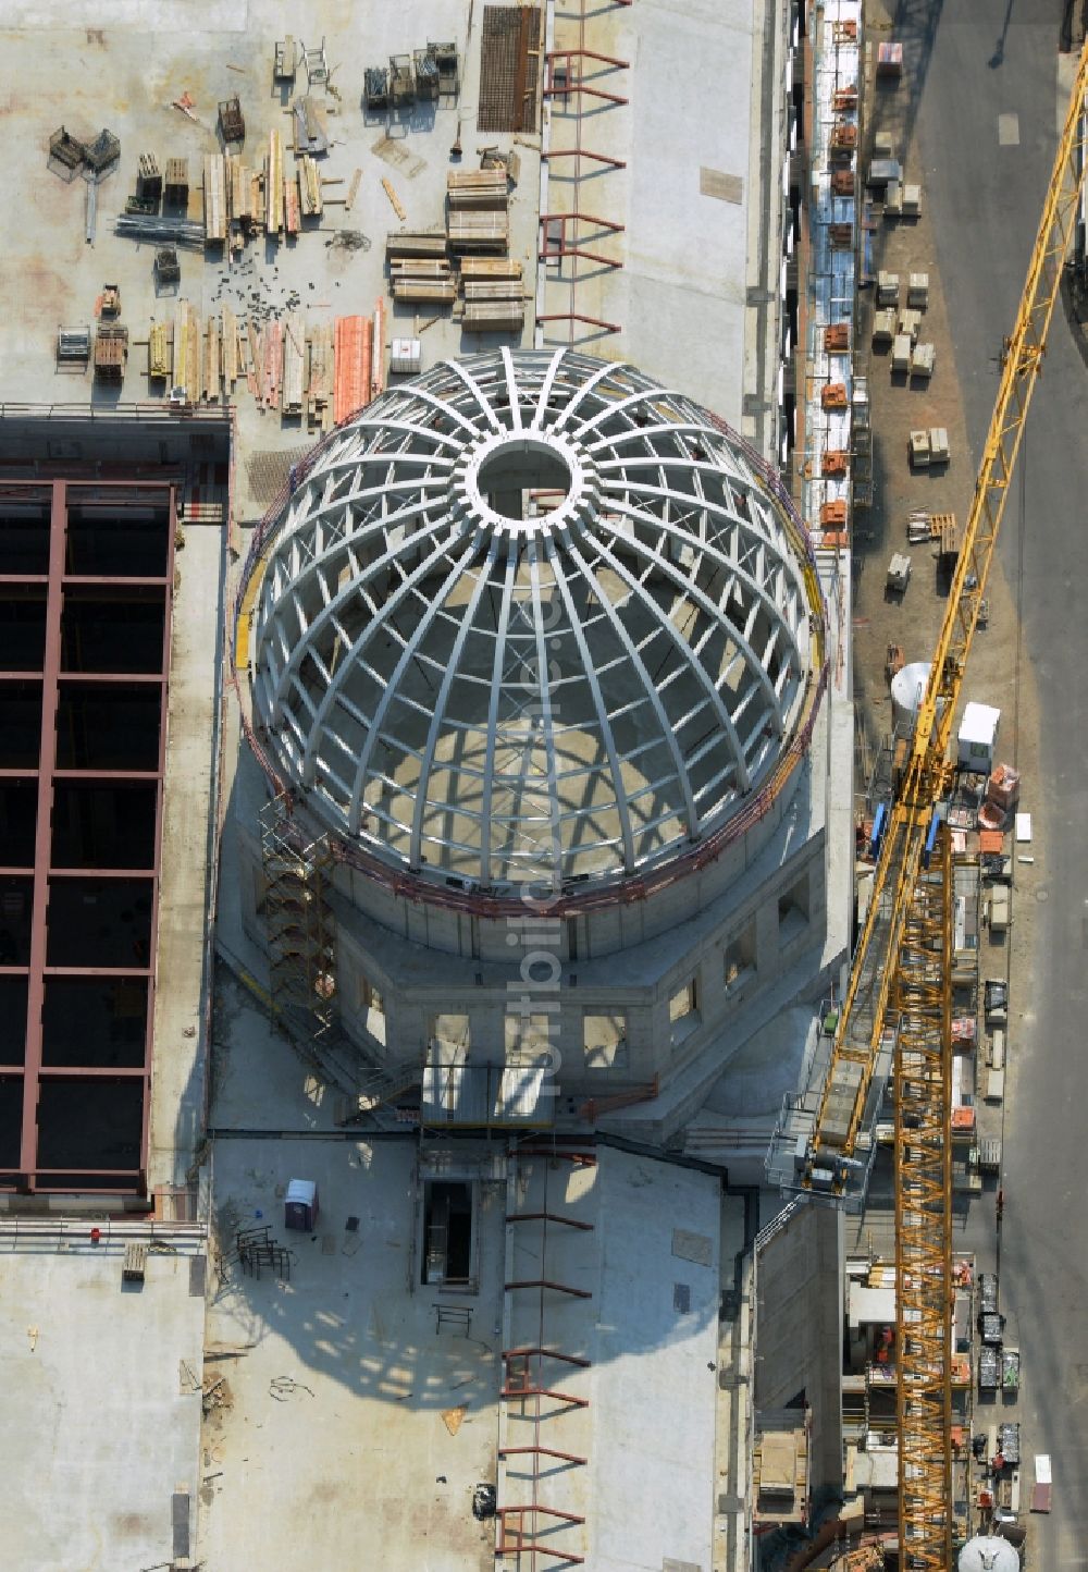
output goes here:
[{"label": "dark grey shaded concrete wall left of the crane's lower mast", "polygon": [[840,1487],[842,1212],[798,1201],[760,1234],[755,1250],[755,1410],[782,1409],[804,1391],[812,1407],[813,1489]]}]

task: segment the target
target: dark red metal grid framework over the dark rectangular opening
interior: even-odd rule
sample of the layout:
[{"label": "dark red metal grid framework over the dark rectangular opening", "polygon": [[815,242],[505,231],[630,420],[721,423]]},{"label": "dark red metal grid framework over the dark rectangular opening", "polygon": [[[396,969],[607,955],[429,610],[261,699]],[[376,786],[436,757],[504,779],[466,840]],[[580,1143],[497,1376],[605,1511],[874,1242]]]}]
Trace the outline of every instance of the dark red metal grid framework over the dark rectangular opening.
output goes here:
[{"label": "dark red metal grid framework over the dark rectangular opening", "polygon": [[174,489],[0,489],[0,1188],[146,1193]]}]

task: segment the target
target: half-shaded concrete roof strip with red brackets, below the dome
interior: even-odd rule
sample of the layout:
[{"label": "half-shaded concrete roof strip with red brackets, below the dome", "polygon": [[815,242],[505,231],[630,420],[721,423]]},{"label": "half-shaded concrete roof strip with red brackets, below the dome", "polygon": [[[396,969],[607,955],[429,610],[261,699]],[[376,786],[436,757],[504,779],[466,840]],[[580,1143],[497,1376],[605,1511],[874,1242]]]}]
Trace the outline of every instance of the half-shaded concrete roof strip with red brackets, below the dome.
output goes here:
[{"label": "half-shaded concrete roof strip with red brackets, below the dome", "polygon": [[[507,1404],[502,1446],[542,1445],[582,1457],[534,1486],[532,1460],[502,1464],[499,1501],[537,1500],[584,1519],[556,1528],[556,1548],[626,1572],[667,1559],[711,1564],[721,1185],[714,1176],[597,1148],[593,1166],[518,1162],[518,1209],[584,1228],[509,1225],[520,1281],[562,1291],[509,1295],[507,1347],[548,1347],[589,1361],[545,1361],[543,1385],[571,1399]],[[584,1407],[579,1407],[584,1404]]]}]

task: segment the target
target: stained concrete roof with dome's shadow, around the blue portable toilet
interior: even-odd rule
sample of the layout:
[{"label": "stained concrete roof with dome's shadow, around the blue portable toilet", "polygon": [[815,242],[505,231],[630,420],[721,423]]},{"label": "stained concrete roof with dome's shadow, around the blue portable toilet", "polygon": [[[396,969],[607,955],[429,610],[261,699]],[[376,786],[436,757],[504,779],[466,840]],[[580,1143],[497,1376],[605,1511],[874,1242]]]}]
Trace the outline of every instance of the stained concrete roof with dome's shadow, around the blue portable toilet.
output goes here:
[{"label": "stained concrete roof with dome's shadow, around the blue portable toilet", "polygon": [[[294,1261],[286,1283],[232,1265],[209,1298],[209,1349],[239,1350],[204,1427],[209,1567],[493,1564],[473,1490],[496,1470],[502,1196],[480,1199],[479,1291],[441,1292],[419,1283],[414,1170],[410,1140],[217,1141],[220,1248],[267,1221]],[[312,1234],[283,1226],[297,1177],[317,1182]],[[436,1303],[468,1305],[469,1331],[436,1331]]]}]

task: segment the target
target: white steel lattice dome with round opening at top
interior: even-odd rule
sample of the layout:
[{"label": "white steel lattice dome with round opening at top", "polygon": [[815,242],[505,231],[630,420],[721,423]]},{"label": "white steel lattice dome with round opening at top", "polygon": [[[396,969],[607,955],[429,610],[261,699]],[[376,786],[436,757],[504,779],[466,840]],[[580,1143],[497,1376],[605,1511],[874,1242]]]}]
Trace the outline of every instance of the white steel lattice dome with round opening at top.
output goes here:
[{"label": "white steel lattice dome with round opening at top", "polygon": [[812,681],[788,505],[628,365],[444,362],[333,434],[268,542],[265,742],[327,828],[424,883],[659,866],[768,778]]}]

